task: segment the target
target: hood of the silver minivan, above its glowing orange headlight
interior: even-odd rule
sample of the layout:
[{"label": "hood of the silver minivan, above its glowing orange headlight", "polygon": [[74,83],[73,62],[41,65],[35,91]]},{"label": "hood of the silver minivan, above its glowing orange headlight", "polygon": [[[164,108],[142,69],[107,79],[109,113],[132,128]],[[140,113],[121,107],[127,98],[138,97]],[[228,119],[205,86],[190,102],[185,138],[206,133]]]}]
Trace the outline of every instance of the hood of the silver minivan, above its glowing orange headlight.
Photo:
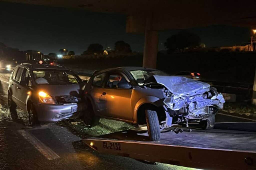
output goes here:
[{"label": "hood of the silver minivan, above its glowing orange headlight", "polygon": [[79,84],[69,85],[37,85],[38,90],[43,90],[50,96],[71,95],[81,97],[81,88]]}]

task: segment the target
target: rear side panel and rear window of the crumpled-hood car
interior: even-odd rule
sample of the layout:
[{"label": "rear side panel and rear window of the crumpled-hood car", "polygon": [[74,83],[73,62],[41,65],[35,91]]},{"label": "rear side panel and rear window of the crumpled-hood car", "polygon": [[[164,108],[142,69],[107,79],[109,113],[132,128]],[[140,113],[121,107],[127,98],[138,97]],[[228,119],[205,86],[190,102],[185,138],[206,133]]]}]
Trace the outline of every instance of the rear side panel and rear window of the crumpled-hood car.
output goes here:
[{"label": "rear side panel and rear window of the crumpled-hood car", "polygon": [[93,98],[93,102],[95,106],[94,112],[96,114],[102,114],[102,115],[104,115],[106,110],[106,106],[105,106],[106,100],[104,99],[104,97],[102,98],[102,96],[104,96],[104,94],[102,94],[102,91],[103,91],[102,86],[105,80],[105,76],[106,76],[106,73],[95,75],[93,77],[92,86],[90,90],[90,94],[91,94],[91,97]]}]

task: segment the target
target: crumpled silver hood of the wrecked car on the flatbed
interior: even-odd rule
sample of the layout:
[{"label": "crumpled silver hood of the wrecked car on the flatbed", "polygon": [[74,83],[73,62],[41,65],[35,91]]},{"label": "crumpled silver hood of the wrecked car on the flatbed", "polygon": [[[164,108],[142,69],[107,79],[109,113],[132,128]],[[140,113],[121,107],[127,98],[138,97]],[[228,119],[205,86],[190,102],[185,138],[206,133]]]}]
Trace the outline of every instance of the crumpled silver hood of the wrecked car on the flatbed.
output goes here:
[{"label": "crumpled silver hood of the wrecked car on the flatbed", "polygon": [[180,76],[153,75],[158,84],[164,85],[171,93],[179,96],[197,95],[210,90],[210,85],[198,80]]}]

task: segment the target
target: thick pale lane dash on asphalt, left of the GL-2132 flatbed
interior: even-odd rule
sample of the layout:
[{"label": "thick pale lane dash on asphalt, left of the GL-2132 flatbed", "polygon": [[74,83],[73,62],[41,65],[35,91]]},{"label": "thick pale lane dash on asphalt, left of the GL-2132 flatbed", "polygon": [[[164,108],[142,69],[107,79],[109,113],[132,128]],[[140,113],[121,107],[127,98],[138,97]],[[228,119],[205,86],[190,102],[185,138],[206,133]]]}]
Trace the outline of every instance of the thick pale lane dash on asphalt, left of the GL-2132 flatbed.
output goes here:
[{"label": "thick pale lane dash on asphalt, left of the GL-2132 flatbed", "polygon": [[39,152],[41,152],[48,160],[54,160],[60,158],[57,153],[52,151],[44,143],[38,140],[34,135],[29,133],[26,130],[18,130],[18,132],[29,142],[31,143]]}]

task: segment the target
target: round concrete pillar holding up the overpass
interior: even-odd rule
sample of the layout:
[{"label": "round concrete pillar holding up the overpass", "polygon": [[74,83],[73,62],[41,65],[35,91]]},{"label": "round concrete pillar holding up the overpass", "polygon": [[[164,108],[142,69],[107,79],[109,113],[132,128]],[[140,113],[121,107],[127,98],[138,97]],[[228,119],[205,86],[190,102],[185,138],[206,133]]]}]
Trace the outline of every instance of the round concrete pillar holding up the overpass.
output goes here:
[{"label": "round concrete pillar holding up the overpass", "polygon": [[150,13],[146,19],[143,67],[155,69],[158,51],[158,32],[152,30],[152,20],[153,13]]}]

